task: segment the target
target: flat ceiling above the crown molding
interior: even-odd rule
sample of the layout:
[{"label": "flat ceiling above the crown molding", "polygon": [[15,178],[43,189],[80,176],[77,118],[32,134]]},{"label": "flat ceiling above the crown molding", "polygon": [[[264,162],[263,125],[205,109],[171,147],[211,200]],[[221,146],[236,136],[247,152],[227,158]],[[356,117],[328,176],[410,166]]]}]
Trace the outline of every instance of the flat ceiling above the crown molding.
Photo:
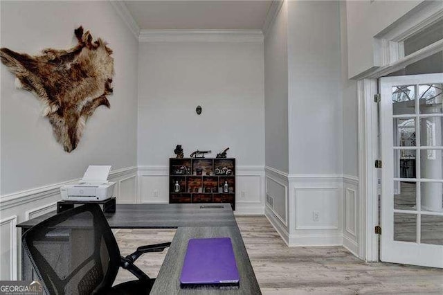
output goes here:
[{"label": "flat ceiling above the crown molding", "polygon": [[262,29],[272,1],[125,1],[142,30]]}]

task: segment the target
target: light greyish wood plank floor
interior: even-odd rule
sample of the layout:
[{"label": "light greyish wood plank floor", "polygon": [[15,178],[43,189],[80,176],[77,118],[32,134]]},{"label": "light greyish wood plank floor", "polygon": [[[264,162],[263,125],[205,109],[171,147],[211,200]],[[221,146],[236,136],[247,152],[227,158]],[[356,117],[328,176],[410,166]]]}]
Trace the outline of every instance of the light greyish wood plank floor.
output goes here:
[{"label": "light greyish wood plank floor", "polygon": [[[263,294],[443,294],[443,269],[365,263],[343,247],[287,247],[266,217],[236,217]],[[120,230],[123,255],[143,244],[171,241],[175,231]],[[165,253],[137,265],[155,277]],[[133,279],[121,269],[116,283]]]}]

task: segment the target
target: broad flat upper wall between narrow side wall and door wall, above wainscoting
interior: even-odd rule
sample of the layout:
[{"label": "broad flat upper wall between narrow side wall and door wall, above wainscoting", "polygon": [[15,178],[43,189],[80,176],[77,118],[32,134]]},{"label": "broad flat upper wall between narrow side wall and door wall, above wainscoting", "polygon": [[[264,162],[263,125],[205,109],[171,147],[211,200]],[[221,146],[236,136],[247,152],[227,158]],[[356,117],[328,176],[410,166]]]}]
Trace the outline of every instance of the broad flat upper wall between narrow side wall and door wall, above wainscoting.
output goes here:
[{"label": "broad flat upper wall between narrow side wall and door wall, above wainscoting", "polygon": [[338,1],[289,1],[288,19],[289,174],[341,174]]}]

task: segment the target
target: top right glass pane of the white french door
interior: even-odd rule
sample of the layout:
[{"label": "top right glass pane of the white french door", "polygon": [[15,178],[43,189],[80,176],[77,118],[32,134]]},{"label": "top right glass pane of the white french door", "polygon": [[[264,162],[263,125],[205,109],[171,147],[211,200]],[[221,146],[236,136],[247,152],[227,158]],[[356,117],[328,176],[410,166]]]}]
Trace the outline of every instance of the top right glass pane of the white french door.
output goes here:
[{"label": "top right glass pane of the white french door", "polygon": [[442,84],[419,85],[420,114],[442,114]]}]

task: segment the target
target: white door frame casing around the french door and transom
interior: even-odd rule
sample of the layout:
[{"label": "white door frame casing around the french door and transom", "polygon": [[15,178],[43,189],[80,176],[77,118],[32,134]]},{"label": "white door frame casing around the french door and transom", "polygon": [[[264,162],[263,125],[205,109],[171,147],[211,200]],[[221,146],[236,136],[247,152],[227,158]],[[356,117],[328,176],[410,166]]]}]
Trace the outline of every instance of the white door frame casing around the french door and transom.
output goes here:
[{"label": "white door frame casing around the french door and transom", "polygon": [[359,258],[366,261],[379,261],[379,235],[374,232],[380,217],[378,178],[381,172],[374,167],[380,152],[378,105],[374,102],[378,79],[443,51],[443,40],[440,40],[406,57],[399,55],[404,39],[443,19],[443,3],[424,1],[411,12],[412,18],[411,15],[408,19],[401,18],[383,30],[383,34],[374,36],[375,55],[383,57],[381,66],[353,78],[357,80],[359,204],[362,205],[359,208]]}]

